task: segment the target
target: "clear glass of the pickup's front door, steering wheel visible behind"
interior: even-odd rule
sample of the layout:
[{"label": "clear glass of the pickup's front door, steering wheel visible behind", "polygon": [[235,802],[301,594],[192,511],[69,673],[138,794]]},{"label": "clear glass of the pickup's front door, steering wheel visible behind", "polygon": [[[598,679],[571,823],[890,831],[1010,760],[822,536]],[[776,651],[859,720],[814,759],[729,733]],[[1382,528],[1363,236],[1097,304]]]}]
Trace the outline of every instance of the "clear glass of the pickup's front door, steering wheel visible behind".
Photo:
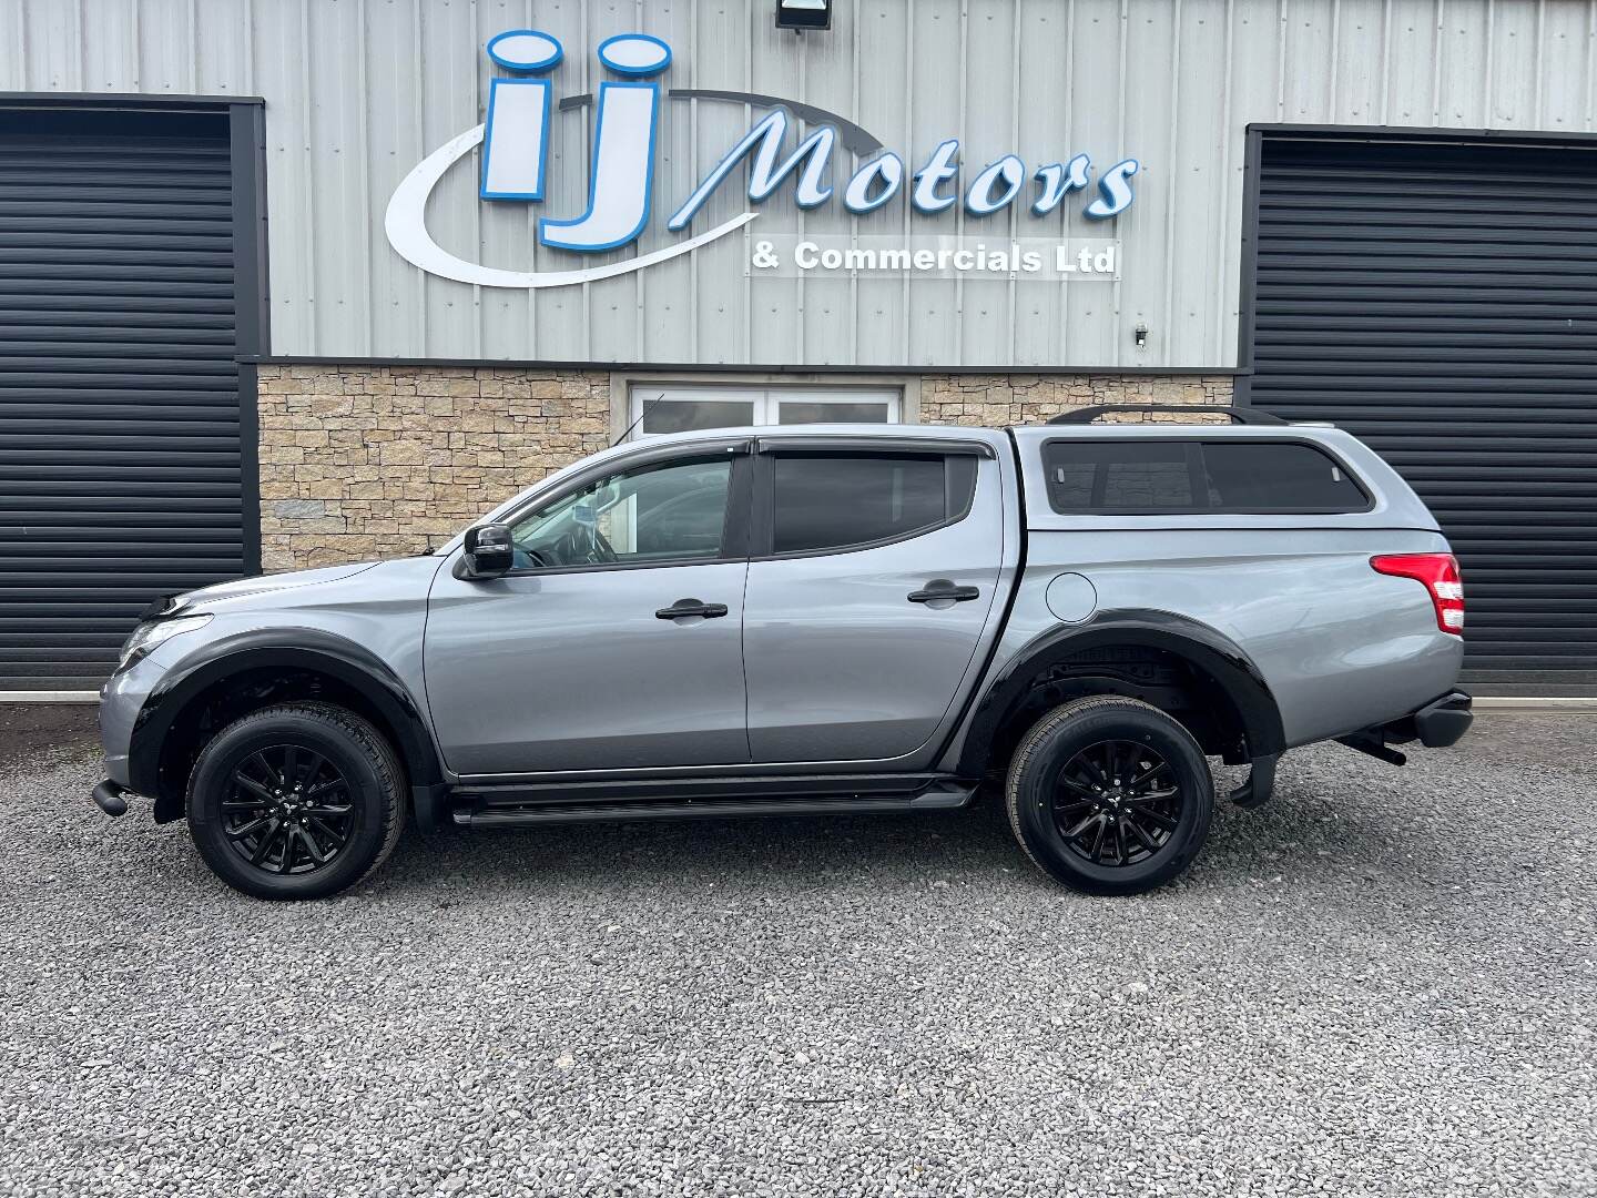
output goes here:
[{"label": "clear glass of the pickup's front door, steering wheel visible behind", "polygon": [[511,529],[516,567],[720,556],[730,457],[639,466],[589,482]]}]

